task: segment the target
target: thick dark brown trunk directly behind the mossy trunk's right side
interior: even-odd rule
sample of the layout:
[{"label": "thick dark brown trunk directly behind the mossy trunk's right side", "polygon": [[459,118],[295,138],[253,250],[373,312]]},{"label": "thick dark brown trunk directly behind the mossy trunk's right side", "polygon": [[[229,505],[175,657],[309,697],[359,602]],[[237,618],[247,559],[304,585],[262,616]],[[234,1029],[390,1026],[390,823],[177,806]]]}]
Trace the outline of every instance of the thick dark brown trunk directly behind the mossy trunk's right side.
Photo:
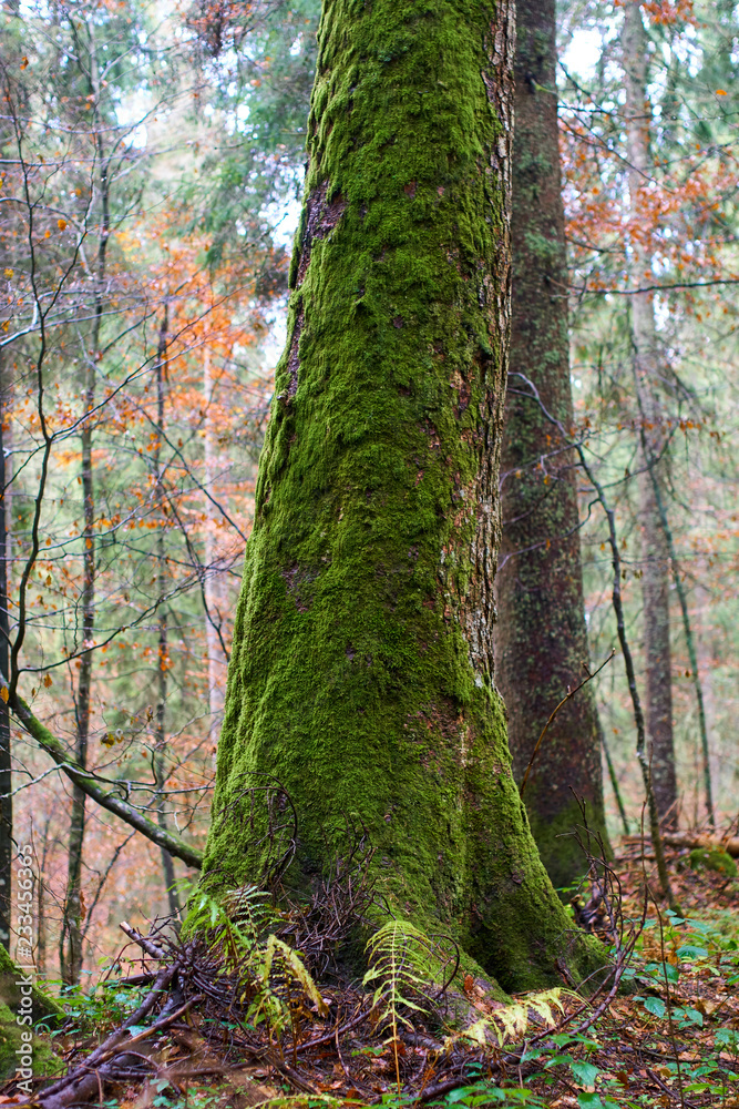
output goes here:
[{"label": "thick dark brown trunk directly behind the mossy trunk's right side", "polygon": [[[544,408],[572,427],[555,0],[519,0],[516,11],[511,375],[494,645],[495,682],[521,782],[553,708],[583,679],[588,647],[576,460],[524,384],[524,378],[533,383]],[[571,885],[587,868],[567,836],[582,823],[577,798],[586,802],[588,823],[607,845],[592,686],[556,716],[526,783],[532,832],[555,886]]]}]

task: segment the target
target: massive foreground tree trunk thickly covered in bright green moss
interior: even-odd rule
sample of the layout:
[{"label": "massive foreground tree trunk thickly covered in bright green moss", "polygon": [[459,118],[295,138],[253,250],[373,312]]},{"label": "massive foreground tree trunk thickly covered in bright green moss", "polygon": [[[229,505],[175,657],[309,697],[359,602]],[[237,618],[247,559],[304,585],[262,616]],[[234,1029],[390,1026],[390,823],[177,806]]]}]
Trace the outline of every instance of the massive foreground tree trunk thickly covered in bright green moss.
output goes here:
[{"label": "massive foreground tree trunk thickly covered in bright green moss", "polygon": [[325,4],[204,882],[259,874],[274,776],[295,888],[358,815],[396,910],[524,988],[568,920],[492,681],[512,45],[507,0]]}]

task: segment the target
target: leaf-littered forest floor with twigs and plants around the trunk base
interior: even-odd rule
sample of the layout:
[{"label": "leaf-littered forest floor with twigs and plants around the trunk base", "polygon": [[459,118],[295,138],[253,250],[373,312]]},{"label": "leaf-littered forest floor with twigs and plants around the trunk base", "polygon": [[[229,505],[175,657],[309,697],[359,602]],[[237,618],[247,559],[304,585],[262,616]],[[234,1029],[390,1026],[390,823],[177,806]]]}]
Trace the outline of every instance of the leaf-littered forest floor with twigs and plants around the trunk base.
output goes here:
[{"label": "leaf-littered forest floor with twigs and plants around the trunk base", "polygon": [[[181,970],[189,968],[189,994],[171,995],[168,1008],[150,1006],[150,1013],[158,1010],[153,1024],[131,1025],[136,1015],[133,996],[135,1004],[147,996],[144,984],[101,987],[92,998],[78,1000],[72,1022],[57,1034],[57,1047],[70,1074],[75,1067],[79,1071],[85,1057],[97,1060],[96,1075],[106,1082],[95,1079],[94,1097],[81,1096],[85,1081],[89,1093],[95,1069],[90,1067],[74,1087],[80,1100],[69,1079],[58,1083],[58,1100],[48,1100],[44,1091],[34,1102],[11,1082],[0,1090],[0,1107],[33,1103],[55,1109],[88,1099],[119,1109],[739,1107],[739,881],[726,858],[725,864],[719,859],[719,869],[711,869],[716,858],[710,853],[694,852],[691,866],[686,849],[670,851],[670,879],[681,915],[664,903],[648,902],[642,926],[645,876],[651,889],[658,888],[648,871],[654,863],[647,856],[645,871],[638,842],[620,845],[614,872],[624,919],[636,923],[636,942],[624,960],[618,993],[612,988],[608,1000],[604,990],[595,1006],[599,1015],[588,1016],[587,1005],[566,988],[561,996],[550,991],[514,999],[507,1008],[491,1006],[480,1000],[482,991],[468,975],[461,985],[474,1006],[469,1011],[487,1021],[476,1039],[450,1038],[449,1029],[420,1010],[406,1009],[407,1026],[402,1020],[382,1026],[366,991],[324,985],[328,1013],[321,1017],[304,996],[298,1025],[290,1018],[292,1035],[284,1025],[283,1034],[273,1036],[267,1019],[252,1017],[249,1024],[219,1013],[215,1003],[220,987],[214,989],[216,979],[207,978],[207,964],[191,952],[185,963],[177,963]],[[171,950],[176,955],[177,948]],[[160,960],[160,977],[163,965]],[[153,966],[150,952],[140,960],[148,990],[156,979]],[[233,983],[229,988],[233,996]],[[127,1054],[122,1055],[123,1049]]]}]

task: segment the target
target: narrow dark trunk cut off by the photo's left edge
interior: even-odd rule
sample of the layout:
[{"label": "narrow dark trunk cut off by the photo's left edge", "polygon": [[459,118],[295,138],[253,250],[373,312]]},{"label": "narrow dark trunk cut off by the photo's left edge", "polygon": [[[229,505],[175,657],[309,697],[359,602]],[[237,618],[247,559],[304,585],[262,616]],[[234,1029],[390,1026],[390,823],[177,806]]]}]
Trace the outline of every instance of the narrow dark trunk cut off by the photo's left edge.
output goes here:
[{"label": "narrow dark trunk cut off by the photo's left edge", "polygon": [[[10,623],[8,620],[8,568],[10,558],[9,521],[12,517],[7,510],[10,499],[10,479],[12,471],[6,466],[6,431],[4,423],[9,408],[10,381],[7,373],[7,354],[0,353],[0,674],[8,681],[8,663],[10,661]],[[10,711],[7,693],[0,698],[0,943],[10,950],[11,925],[11,883],[13,858],[13,798],[12,761],[10,749]]]}]

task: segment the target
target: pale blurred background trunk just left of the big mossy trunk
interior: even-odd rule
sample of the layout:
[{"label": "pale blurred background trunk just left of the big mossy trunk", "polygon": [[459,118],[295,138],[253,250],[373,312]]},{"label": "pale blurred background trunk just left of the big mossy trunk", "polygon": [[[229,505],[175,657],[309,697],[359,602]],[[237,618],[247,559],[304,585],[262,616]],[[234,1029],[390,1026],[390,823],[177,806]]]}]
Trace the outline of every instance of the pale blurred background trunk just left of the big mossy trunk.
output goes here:
[{"label": "pale blurred background trunk just left of the big mossy trunk", "polygon": [[[218,475],[218,451],[213,411],[215,381],[211,372],[211,349],[208,346],[205,347],[203,358],[203,394],[205,398],[204,485],[211,497],[214,497]],[[223,571],[217,564],[216,512],[211,497],[205,498],[205,637],[208,650],[209,734],[211,744],[215,751],[223,723],[227,660],[220,638],[224,611]]]}]

